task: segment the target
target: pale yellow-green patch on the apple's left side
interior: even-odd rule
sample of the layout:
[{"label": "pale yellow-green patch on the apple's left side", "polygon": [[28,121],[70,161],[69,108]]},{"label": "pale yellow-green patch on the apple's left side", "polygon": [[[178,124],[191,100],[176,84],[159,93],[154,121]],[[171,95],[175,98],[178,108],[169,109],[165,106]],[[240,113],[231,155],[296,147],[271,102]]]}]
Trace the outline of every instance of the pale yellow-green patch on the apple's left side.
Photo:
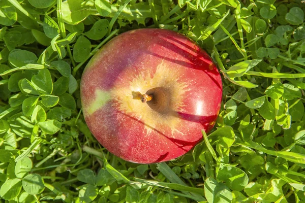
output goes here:
[{"label": "pale yellow-green patch on the apple's left side", "polygon": [[94,112],[96,112],[101,107],[103,107],[110,99],[111,99],[111,93],[109,93],[108,91],[96,89],[95,100],[88,106],[83,107],[83,111],[87,116],[89,116]]}]

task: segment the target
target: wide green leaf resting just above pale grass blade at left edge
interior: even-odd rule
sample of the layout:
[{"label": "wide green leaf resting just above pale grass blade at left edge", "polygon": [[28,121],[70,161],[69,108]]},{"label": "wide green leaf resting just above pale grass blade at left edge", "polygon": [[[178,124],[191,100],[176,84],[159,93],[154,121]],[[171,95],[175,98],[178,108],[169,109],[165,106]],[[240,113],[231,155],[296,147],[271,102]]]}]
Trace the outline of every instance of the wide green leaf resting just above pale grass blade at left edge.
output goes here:
[{"label": "wide green leaf resting just above pale grass blade at left edge", "polygon": [[11,51],[9,55],[9,62],[15,67],[27,65],[28,63],[36,63],[37,59],[34,53],[20,49]]}]

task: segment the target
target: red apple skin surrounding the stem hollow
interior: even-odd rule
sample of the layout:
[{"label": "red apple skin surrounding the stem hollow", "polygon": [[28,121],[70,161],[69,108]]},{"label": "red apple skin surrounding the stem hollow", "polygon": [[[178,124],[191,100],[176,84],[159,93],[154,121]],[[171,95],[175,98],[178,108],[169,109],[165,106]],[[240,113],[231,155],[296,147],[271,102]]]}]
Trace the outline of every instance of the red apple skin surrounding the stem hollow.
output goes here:
[{"label": "red apple skin surrounding the stem hollow", "polygon": [[[171,91],[172,113],[163,115],[132,98],[132,91]],[[82,75],[85,121],[111,153],[154,163],[184,155],[217,119],[222,81],[204,50],[165,29],[136,29],[108,42]]]}]

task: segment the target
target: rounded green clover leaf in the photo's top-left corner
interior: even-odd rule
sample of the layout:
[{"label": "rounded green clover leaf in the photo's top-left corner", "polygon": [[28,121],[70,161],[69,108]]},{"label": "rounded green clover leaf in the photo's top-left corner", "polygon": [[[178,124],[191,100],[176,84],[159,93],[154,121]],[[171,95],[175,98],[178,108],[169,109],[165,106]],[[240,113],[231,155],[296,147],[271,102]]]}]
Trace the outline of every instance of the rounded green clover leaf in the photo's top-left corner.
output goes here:
[{"label": "rounded green clover leaf in the photo's top-left corner", "polygon": [[0,24],[10,26],[15,24],[17,13],[15,7],[8,1],[0,1]]}]

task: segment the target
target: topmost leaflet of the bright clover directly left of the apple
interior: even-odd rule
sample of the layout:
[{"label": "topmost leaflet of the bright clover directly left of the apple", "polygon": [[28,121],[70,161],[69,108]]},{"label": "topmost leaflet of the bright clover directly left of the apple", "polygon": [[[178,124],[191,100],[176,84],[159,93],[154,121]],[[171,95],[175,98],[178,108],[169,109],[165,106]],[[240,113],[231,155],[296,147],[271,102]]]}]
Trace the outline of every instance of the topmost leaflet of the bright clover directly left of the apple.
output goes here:
[{"label": "topmost leaflet of the bright clover directly left of the apple", "polygon": [[51,94],[53,90],[52,78],[49,70],[42,69],[31,79],[33,86],[42,94]]}]

